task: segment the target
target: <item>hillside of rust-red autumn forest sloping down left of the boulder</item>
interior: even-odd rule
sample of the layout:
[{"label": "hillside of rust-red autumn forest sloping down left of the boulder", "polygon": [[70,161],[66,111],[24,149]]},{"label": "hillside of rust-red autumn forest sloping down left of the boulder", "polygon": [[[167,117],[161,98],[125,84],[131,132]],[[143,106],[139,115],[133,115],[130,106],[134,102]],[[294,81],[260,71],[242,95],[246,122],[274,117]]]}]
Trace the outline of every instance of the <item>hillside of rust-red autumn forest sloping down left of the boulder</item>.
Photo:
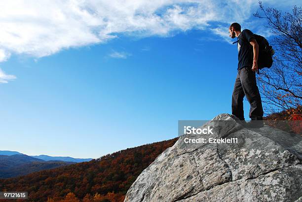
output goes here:
[{"label": "hillside of rust-red autumn forest sloping down left of the boulder", "polygon": [[27,191],[30,201],[120,202],[138,175],[177,139],[128,148],[90,162],[0,179],[0,191]]}]

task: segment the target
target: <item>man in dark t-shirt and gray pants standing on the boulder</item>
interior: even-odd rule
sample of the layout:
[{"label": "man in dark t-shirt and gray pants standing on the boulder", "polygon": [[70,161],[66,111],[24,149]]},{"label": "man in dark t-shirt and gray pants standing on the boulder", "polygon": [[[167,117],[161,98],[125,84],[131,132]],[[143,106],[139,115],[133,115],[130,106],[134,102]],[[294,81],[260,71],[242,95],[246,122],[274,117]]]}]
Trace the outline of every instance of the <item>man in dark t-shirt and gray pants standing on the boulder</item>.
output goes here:
[{"label": "man in dark t-shirt and gray pants standing on the boulder", "polygon": [[251,122],[247,126],[263,127],[263,108],[259,89],[256,83],[258,71],[258,43],[250,30],[243,30],[238,23],[233,23],[228,28],[231,38],[237,37],[238,68],[232,94],[232,114],[246,123],[243,113],[243,98],[246,96],[251,108],[249,117]]}]

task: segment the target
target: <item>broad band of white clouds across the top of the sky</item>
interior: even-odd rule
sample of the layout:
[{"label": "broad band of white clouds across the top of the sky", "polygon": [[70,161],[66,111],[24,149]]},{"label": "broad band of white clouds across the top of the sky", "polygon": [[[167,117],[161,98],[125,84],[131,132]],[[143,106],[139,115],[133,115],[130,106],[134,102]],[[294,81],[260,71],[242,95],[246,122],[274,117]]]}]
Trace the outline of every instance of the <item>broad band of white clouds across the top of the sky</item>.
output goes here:
[{"label": "broad band of white clouds across the top of the sky", "polygon": [[48,56],[118,34],[172,36],[211,24],[215,34],[225,35],[215,24],[242,23],[257,7],[255,0],[0,1],[0,61],[11,54]]}]

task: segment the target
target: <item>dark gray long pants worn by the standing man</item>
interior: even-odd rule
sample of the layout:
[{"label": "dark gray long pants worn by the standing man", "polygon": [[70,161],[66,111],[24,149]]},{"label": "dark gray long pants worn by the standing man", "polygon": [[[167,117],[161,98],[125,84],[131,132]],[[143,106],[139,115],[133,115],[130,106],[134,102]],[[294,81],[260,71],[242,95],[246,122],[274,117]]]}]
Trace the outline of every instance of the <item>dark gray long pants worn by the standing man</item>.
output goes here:
[{"label": "dark gray long pants worn by the standing man", "polygon": [[256,83],[256,72],[252,67],[238,70],[232,95],[232,114],[244,120],[243,98],[246,96],[251,104],[249,117],[251,120],[263,120],[263,108],[259,89]]}]

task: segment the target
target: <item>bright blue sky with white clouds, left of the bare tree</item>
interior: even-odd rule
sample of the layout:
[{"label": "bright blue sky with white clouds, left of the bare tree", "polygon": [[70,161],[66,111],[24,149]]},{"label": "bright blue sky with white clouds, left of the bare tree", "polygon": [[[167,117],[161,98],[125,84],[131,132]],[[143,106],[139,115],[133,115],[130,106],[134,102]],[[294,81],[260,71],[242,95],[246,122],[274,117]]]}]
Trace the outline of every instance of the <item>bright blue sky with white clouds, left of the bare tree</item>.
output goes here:
[{"label": "bright blue sky with white clouds, left of the bare tree", "polygon": [[[272,37],[252,16],[256,1],[5,6],[0,150],[28,155],[98,158],[176,137],[178,120],[231,113],[237,48],[229,24]],[[249,119],[247,101],[244,110]]]}]

